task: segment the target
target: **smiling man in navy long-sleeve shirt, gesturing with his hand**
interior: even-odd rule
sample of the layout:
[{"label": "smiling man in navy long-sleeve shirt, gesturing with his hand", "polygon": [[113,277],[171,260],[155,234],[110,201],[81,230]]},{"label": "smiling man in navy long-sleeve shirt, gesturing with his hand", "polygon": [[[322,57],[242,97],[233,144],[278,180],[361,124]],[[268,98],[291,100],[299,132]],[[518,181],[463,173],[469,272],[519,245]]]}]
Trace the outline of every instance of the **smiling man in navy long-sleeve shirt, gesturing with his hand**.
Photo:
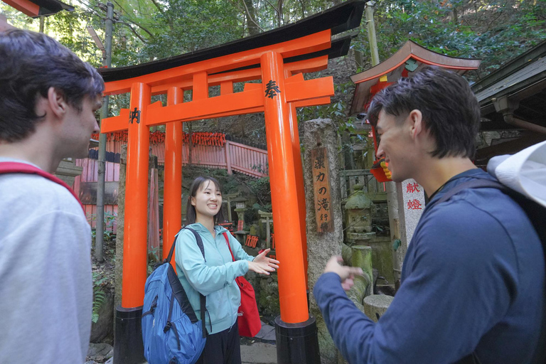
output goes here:
[{"label": "smiling man in navy long-sleeve shirt, gesturing with his hand", "polygon": [[[358,269],[333,257],[314,287],[334,343],[351,364],[530,363],[542,322],[545,263],[525,212],[495,188],[441,196],[472,178],[480,122],[462,77],[424,68],[382,90],[368,109],[396,182],[414,178],[429,203],[402,267],[402,283],[374,323],[343,289]],[[343,284],[343,287],[342,287]]]}]

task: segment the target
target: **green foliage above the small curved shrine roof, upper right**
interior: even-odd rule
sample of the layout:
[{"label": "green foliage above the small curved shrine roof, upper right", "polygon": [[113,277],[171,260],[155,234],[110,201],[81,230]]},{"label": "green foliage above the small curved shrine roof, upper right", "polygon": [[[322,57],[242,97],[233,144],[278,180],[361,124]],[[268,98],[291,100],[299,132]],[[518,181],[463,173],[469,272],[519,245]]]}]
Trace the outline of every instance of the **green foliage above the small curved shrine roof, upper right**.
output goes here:
[{"label": "green foliage above the small curved shrine roof, upper right", "polygon": [[[491,73],[544,40],[545,19],[545,1],[398,0],[378,1],[375,9],[380,60],[412,39],[445,55],[481,58],[481,68],[470,78]],[[365,27],[353,47],[368,54]],[[369,68],[370,63],[364,66]]]}]

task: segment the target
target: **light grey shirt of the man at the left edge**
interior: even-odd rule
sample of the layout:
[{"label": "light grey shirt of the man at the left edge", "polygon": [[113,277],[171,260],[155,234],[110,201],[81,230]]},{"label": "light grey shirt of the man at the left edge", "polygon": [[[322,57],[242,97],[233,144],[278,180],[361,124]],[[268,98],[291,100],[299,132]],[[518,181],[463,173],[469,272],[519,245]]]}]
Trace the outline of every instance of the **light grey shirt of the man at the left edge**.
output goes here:
[{"label": "light grey shirt of the man at the left edge", "polygon": [[90,226],[66,188],[0,174],[0,363],[85,362],[90,245]]}]

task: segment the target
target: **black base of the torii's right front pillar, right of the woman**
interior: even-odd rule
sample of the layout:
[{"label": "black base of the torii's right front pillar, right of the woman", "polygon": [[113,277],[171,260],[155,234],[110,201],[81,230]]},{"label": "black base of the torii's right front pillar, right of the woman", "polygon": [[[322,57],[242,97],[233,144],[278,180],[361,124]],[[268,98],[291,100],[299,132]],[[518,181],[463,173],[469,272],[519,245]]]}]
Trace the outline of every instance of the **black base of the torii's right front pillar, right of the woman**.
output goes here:
[{"label": "black base of the torii's right front pillar, right of the woman", "polygon": [[287,323],[281,316],[275,319],[278,364],[321,363],[319,337],[313,316],[299,323]]}]

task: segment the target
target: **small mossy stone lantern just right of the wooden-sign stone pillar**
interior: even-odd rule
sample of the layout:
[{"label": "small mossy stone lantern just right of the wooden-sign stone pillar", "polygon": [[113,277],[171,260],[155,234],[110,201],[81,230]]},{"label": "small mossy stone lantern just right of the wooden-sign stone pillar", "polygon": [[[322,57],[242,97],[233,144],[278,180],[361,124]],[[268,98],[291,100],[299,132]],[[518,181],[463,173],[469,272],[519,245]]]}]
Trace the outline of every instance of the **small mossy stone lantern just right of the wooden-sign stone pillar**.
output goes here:
[{"label": "small mossy stone lantern just right of the wooden-sign stone pillar", "polygon": [[353,188],[355,192],[345,204],[347,232],[370,232],[372,231],[373,202],[362,191],[362,185],[355,185]]}]

